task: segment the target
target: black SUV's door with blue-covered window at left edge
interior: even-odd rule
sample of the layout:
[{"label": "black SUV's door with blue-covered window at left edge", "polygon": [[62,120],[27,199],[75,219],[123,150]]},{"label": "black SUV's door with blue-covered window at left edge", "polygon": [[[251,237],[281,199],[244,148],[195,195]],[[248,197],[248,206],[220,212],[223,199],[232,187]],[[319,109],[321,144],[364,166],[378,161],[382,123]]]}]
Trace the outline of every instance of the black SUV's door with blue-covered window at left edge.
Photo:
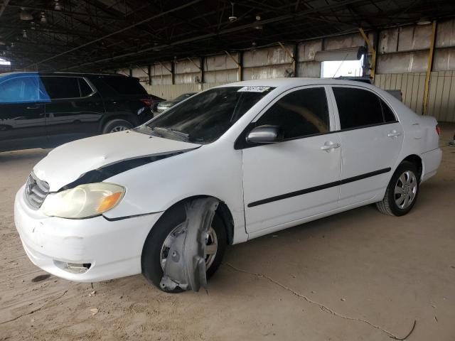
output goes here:
[{"label": "black SUV's door with blue-covered window at left edge", "polygon": [[45,146],[45,104],[38,87],[33,76],[0,83],[0,151]]}]

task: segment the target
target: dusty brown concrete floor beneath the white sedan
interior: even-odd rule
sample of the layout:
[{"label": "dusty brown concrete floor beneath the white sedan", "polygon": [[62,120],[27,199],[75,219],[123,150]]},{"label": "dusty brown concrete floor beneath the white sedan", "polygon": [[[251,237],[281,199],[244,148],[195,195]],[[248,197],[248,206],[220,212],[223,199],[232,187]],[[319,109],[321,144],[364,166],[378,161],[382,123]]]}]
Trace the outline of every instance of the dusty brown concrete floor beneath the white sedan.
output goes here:
[{"label": "dusty brown concrete floor beneath the white sedan", "polygon": [[0,153],[0,340],[391,340],[414,321],[407,340],[455,340],[455,125],[443,129],[409,215],[361,207],[229,247],[207,292],[179,295],[141,275],[33,282],[44,273],[13,201],[47,151]]}]

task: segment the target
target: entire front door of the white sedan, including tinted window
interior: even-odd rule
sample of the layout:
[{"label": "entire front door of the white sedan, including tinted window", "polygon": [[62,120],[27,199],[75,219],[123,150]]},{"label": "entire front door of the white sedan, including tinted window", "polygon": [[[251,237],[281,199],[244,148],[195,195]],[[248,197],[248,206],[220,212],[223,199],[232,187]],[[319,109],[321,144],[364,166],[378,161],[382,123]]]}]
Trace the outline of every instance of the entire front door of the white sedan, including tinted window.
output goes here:
[{"label": "entire front door of the white sedan, including tinted window", "polygon": [[324,87],[289,90],[250,126],[279,126],[285,141],[243,149],[247,232],[338,207],[341,148]]}]

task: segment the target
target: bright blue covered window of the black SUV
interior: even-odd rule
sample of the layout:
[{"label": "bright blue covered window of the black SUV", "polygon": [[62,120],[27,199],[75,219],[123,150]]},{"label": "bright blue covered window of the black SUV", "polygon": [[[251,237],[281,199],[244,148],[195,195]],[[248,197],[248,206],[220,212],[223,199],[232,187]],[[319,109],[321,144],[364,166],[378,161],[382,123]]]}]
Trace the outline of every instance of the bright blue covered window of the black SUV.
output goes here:
[{"label": "bright blue covered window of the black SUV", "polygon": [[17,77],[0,83],[0,103],[37,102],[37,77]]}]

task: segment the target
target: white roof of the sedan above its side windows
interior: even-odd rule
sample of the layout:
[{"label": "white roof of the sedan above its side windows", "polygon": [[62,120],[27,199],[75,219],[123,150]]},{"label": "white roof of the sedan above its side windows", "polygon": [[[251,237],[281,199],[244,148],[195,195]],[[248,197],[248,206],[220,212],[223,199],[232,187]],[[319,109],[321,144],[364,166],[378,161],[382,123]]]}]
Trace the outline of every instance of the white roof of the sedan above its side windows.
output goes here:
[{"label": "white roof of the sedan above its side windows", "polygon": [[245,87],[245,86],[262,86],[262,87],[279,87],[288,89],[292,87],[301,87],[304,85],[357,85],[377,90],[374,85],[365,82],[355,82],[353,80],[335,80],[333,78],[309,78],[309,77],[289,77],[289,78],[271,78],[263,80],[245,80],[234,82],[220,87]]}]

